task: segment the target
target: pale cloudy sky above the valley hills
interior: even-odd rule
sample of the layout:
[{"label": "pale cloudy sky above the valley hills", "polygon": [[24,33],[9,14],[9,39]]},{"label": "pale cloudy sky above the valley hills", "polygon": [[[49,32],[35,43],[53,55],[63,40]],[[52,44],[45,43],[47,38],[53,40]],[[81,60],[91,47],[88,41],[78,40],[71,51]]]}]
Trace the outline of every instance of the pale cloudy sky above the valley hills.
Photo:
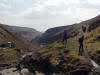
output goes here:
[{"label": "pale cloudy sky above the valley hills", "polygon": [[0,23],[41,32],[98,15],[100,0],[0,0]]}]

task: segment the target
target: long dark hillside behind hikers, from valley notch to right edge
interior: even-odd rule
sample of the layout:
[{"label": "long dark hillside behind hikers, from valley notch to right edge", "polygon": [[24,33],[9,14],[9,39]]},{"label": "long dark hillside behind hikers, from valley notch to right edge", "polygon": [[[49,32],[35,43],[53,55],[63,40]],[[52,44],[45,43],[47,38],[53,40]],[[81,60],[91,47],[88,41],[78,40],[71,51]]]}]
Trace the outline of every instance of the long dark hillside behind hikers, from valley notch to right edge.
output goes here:
[{"label": "long dark hillside behind hikers, from valley notch to right edge", "polygon": [[64,30],[67,30],[69,37],[76,36],[78,35],[78,33],[80,33],[80,29],[82,25],[86,25],[88,31],[95,30],[100,26],[100,16],[97,16],[87,21],[83,21],[78,24],[66,25],[66,26],[60,26],[60,27],[48,29],[44,34],[33,39],[32,42],[36,42],[38,44],[53,43],[57,40],[62,39]]}]

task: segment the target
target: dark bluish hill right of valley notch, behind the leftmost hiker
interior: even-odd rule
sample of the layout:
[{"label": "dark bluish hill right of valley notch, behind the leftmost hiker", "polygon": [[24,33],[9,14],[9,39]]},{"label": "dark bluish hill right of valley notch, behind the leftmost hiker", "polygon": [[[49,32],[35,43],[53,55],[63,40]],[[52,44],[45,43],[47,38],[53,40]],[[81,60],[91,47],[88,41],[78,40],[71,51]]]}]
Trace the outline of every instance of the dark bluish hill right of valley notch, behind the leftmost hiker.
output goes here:
[{"label": "dark bluish hill right of valley notch, behind the leftmost hiker", "polygon": [[[53,43],[57,40],[61,40],[63,36],[64,30],[67,30],[68,35],[70,35],[72,32],[74,32],[79,26],[77,24],[74,25],[68,25],[68,26],[61,26],[61,27],[55,27],[48,29],[44,34],[41,36],[36,37],[32,40],[32,42],[36,42],[38,44],[46,44],[46,43]],[[73,37],[78,32],[75,32],[70,37]]]}]

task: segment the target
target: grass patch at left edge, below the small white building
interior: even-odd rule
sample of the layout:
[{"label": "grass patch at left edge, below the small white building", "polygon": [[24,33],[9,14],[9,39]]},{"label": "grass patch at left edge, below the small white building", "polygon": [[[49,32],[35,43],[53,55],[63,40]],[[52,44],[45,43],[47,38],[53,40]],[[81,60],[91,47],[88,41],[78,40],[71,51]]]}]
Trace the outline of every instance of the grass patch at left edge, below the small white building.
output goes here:
[{"label": "grass patch at left edge, below the small white building", "polygon": [[0,51],[0,64],[12,64],[18,62],[18,57],[14,48]]}]

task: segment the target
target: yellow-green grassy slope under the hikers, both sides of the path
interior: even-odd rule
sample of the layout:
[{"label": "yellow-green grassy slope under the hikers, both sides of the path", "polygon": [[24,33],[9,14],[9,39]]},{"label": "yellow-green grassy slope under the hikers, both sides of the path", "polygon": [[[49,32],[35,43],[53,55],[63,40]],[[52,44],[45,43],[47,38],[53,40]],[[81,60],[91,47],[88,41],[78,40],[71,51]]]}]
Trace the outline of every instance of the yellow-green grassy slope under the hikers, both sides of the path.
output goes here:
[{"label": "yellow-green grassy slope under the hikers, both sides of the path", "polygon": [[[65,54],[65,62],[61,64],[61,69],[66,71],[69,75],[71,73],[76,73],[81,70],[90,71],[91,66],[85,61],[81,56],[78,56],[78,38],[81,36],[81,29],[78,30],[80,33],[68,39],[67,48],[61,42],[55,42],[53,44],[44,46],[38,50],[38,53],[33,55],[33,58],[45,59],[50,56],[50,62],[56,66],[62,55]],[[94,33],[95,32],[95,33]],[[100,42],[96,40],[99,36],[100,28],[93,30],[92,32],[87,32],[85,35],[84,47],[87,47],[88,52],[90,52],[91,58],[100,64]],[[65,53],[68,52],[68,53]],[[95,74],[96,75],[96,74]]]}]

